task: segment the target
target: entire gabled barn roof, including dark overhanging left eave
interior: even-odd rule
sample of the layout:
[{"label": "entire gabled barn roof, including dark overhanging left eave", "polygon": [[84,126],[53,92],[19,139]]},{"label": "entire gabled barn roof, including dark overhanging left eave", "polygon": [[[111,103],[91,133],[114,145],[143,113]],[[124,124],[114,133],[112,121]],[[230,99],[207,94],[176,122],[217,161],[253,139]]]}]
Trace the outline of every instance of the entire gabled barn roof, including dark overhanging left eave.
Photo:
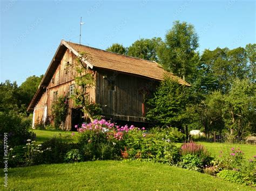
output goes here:
[{"label": "entire gabled barn roof, including dark overhanging left eave", "polygon": [[36,103],[42,96],[44,88],[48,86],[51,77],[55,73],[60,60],[62,59],[66,49],[70,49],[76,56],[80,56],[80,53],[85,53],[87,60],[83,59],[88,67],[91,69],[104,68],[109,70],[115,70],[117,72],[123,72],[127,74],[133,74],[143,77],[149,77],[150,79],[163,80],[165,75],[178,80],[180,84],[190,86],[189,83],[180,79],[176,75],[166,72],[157,62],[150,60],[143,60],[134,58],[132,56],[122,55],[109,51],[103,51],[102,49],[93,48],[89,46],[70,43],[62,40],[60,45],[53,56],[50,66],[46,70],[44,77],[38,87],[38,90],[29,104],[27,111],[33,111]]}]

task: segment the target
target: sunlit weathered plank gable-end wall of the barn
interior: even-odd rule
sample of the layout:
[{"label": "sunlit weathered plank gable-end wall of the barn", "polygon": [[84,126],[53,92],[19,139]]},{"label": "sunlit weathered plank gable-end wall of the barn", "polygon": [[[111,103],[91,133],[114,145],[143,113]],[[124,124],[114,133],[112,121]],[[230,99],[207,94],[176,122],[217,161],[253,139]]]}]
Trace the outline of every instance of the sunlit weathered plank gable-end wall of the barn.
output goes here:
[{"label": "sunlit weathered plank gable-end wall of the barn", "polygon": [[[34,111],[34,120],[35,124],[38,124],[42,121],[43,118],[43,109],[46,106],[48,109],[48,119],[50,122],[53,122],[51,116],[51,105],[53,103],[53,92],[57,91],[58,96],[69,95],[69,88],[71,84],[75,84],[74,76],[76,75],[76,66],[77,60],[76,56],[67,49],[62,60],[59,62],[59,65],[52,76],[52,79],[48,86],[45,87],[45,92],[41,99],[38,101]],[[95,73],[92,70],[89,72]],[[95,101],[95,88],[88,88],[86,90],[90,95],[90,101]],[[38,109],[43,108],[43,109]],[[69,98],[69,111],[68,116],[66,117],[65,129],[71,130],[71,108],[75,108],[73,100]]]}]

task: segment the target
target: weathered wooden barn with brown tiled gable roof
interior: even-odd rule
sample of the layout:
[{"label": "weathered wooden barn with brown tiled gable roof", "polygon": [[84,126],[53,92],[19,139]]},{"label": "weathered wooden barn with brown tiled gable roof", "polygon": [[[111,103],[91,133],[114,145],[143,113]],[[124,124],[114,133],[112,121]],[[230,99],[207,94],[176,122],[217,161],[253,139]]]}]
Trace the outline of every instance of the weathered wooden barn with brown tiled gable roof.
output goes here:
[{"label": "weathered wooden barn with brown tiled gable roof", "polygon": [[[146,123],[145,99],[156,90],[157,84],[166,74],[178,79],[180,84],[190,86],[177,76],[167,73],[155,61],[62,40],[27,109],[28,112],[33,112],[33,126],[38,123],[52,123],[53,101],[59,95],[73,93],[76,70],[67,67],[77,62],[76,58],[82,52],[90,56],[90,59],[83,59],[83,62],[95,80],[95,86],[86,91],[91,102],[100,104],[102,115],[106,119]],[[73,129],[81,117],[79,108],[69,99],[64,129]]]}]

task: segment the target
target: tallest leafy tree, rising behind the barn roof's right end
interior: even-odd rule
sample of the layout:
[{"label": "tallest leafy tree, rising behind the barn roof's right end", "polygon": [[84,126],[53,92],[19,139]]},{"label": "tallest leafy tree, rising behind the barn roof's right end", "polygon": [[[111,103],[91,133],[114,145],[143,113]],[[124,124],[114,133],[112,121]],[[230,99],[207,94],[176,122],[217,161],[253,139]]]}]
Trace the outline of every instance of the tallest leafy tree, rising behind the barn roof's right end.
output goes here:
[{"label": "tallest leafy tree, rising behind the barn roof's right end", "polygon": [[198,63],[198,46],[198,35],[194,26],[175,21],[172,29],[167,32],[164,43],[158,48],[160,63],[183,79],[186,76],[189,81]]}]

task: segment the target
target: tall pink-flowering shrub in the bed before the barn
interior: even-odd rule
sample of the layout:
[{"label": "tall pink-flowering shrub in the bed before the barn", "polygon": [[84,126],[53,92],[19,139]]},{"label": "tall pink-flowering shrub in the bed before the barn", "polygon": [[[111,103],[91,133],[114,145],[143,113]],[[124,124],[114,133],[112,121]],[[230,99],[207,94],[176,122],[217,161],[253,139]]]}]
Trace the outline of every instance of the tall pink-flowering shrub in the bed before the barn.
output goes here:
[{"label": "tall pink-flowering shrub in the bed before the barn", "polygon": [[[118,126],[105,119],[95,119],[89,124],[75,126],[80,133],[79,144],[82,147],[84,160],[118,159],[125,151],[128,134],[138,132],[143,137],[145,128],[139,129],[133,125]],[[126,157],[127,157],[127,152]]]}]

